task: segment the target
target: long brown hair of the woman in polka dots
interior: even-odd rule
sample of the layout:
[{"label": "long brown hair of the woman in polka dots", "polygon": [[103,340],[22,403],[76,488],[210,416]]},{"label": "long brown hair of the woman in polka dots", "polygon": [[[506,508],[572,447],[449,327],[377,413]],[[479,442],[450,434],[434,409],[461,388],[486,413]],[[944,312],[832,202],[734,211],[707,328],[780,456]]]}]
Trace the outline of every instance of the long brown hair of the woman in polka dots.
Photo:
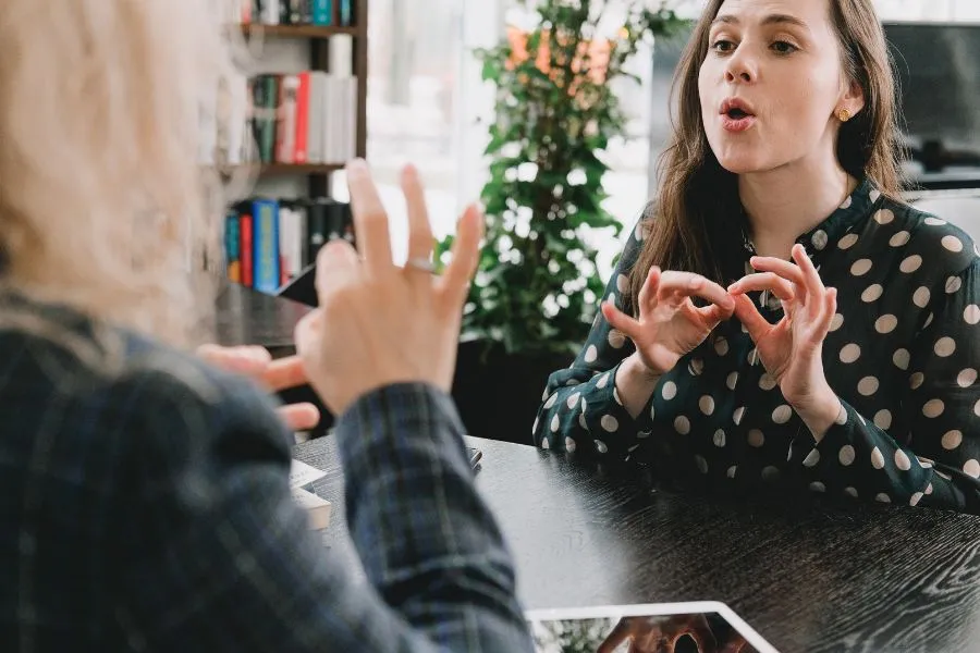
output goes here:
[{"label": "long brown hair of the woman in polka dots", "polygon": [[[865,93],[863,109],[841,126],[837,160],[852,176],[868,176],[883,195],[899,199],[897,89],[884,32],[871,0],[829,1],[844,73]],[[698,94],[711,22],[723,2],[708,2],[674,74],[673,134],[658,163],[658,195],[644,215],[648,237],[629,273],[634,310],[651,266],[696,272],[724,285],[724,270],[738,264],[737,176],[711,151]]]}]

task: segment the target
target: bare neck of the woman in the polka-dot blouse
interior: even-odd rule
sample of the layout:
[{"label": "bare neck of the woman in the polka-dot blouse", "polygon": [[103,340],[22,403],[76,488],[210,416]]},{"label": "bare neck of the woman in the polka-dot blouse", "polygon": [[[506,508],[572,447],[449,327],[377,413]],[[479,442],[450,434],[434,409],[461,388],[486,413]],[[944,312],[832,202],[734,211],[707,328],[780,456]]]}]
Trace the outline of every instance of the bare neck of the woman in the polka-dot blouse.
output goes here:
[{"label": "bare neck of the woman in the polka-dot blouse", "polygon": [[738,176],[738,196],[748,214],[759,256],[789,258],[793,244],[834,212],[857,181],[834,161],[798,161],[768,172]]}]

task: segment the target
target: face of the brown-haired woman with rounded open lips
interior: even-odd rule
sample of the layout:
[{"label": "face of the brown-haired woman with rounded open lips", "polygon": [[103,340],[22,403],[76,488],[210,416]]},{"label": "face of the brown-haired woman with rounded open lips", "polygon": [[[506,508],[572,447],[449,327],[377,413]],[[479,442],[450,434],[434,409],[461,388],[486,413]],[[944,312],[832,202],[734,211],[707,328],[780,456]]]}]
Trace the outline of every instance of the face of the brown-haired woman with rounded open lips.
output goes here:
[{"label": "face of the brown-haired woman with rounded open lips", "polygon": [[698,91],[711,150],[736,174],[833,157],[835,113],[863,106],[842,67],[829,0],[725,0]]}]

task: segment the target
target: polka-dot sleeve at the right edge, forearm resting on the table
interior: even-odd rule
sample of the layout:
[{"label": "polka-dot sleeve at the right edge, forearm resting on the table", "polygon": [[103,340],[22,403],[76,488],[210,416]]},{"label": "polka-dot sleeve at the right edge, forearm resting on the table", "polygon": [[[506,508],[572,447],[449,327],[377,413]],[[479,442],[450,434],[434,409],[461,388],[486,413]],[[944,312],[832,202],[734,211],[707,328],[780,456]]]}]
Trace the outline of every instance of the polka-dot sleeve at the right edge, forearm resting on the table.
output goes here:
[{"label": "polka-dot sleeve at the right edge, forearm resting on the table", "polygon": [[[909,353],[896,438],[846,402],[803,457],[814,483],[883,503],[980,514],[980,259],[945,282]],[[822,488],[821,488],[822,489]]]}]

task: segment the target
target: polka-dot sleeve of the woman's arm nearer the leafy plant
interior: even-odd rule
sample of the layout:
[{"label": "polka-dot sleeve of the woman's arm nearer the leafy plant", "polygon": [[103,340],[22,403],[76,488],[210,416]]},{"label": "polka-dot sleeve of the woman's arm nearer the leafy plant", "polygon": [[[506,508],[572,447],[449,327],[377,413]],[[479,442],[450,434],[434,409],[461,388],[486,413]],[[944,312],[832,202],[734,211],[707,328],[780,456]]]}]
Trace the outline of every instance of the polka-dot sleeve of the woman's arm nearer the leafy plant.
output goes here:
[{"label": "polka-dot sleeve of the woman's arm nearer the leafy plant", "polygon": [[[646,220],[640,219],[630,230],[600,303],[608,299],[624,309],[627,279],[639,256],[646,227]],[[648,434],[653,428],[649,402],[634,419],[616,393],[616,371],[634,350],[633,342],[597,311],[589,336],[575,361],[548,379],[543,403],[534,424],[535,444],[586,455],[628,456],[638,435]]]}]

